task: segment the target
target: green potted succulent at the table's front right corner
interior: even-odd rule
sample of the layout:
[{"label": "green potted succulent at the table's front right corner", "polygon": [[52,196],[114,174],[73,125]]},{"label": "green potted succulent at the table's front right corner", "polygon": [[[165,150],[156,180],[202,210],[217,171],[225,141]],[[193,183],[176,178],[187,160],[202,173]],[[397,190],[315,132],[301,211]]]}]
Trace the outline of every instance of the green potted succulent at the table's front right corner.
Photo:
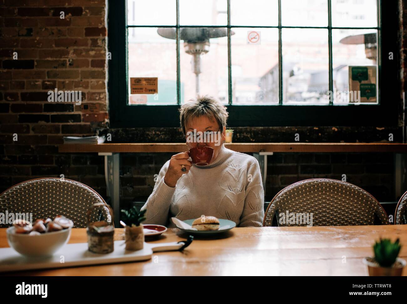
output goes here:
[{"label": "green potted succulent at the table's front right corner", "polygon": [[397,257],[401,248],[399,242],[399,239],[392,243],[384,238],[373,245],[374,257],[363,259],[368,265],[369,276],[401,276],[406,261]]}]

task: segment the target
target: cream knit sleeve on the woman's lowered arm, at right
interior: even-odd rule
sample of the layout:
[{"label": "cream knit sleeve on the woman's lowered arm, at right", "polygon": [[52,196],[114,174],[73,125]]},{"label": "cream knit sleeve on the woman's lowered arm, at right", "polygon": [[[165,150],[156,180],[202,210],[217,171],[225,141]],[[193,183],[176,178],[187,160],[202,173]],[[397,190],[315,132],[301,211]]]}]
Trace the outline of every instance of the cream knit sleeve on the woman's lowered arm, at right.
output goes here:
[{"label": "cream knit sleeve on the woman's lowered arm, at right", "polygon": [[261,227],[264,218],[264,190],[260,166],[254,157],[248,166],[245,204],[239,227]]}]

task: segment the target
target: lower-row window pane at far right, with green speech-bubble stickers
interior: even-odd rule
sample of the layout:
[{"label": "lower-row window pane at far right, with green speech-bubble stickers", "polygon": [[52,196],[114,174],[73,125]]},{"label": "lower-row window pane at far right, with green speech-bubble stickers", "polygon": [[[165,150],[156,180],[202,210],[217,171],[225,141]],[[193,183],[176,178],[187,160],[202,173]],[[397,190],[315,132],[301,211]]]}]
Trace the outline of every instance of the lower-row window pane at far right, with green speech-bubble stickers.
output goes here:
[{"label": "lower-row window pane at far right, with green speech-bubble stickers", "polygon": [[[376,30],[332,30],[333,86],[337,90],[334,104],[348,103],[349,66],[376,66],[375,75],[369,80],[377,87],[377,31]],[[373,71],[372,71],[373,72]],[[366,81],[363,81],[364,83]],[[345,92],[344,92],[345,91]],[[352,92],[354,87],[352,88]],[[346,94],[342,94],[346,93]],[[356,92],[356,94],[360,94]],[[376,94],[377,96],[377,94]],[[339,98],[338,98],[339,97]],[[357,97],[357,96],[355,96]],[[354,101],[357,100],[356,98]],[[369,98],[377,103],[377,98]]]}]

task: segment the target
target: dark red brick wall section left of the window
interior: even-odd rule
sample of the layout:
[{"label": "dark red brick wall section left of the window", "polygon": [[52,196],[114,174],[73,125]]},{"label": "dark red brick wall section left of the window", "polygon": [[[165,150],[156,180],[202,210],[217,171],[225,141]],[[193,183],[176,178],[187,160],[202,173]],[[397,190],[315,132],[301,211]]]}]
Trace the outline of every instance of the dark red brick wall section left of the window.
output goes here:
[{"label": "dark red brick wall section left of the window", "polygon": [[[64,174],[103,195],[103,158],[56,144],[106,125],[105,1],[1,0],[0,33],[0,191]],[[55,88],[81,91],[81,105],[48,102]]]}]

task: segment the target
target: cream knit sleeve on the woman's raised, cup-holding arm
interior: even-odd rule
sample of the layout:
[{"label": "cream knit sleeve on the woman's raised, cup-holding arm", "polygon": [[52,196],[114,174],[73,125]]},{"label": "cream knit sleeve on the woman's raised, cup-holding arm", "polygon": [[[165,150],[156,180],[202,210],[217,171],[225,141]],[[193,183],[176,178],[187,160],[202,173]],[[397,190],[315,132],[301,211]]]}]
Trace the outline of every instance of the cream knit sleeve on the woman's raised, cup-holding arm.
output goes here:
[{"label": "cream knit sleeve on the woman's raised, cup-holding arm", "polygon": [[169,160],[162,166],[153,192],[141,208],[141,210],[147,209],[144,214],[146,220],[143,221],[143,224],[166,225],[169,208],[175,192],[175,187],[167,186],[164,182],[164,175],[168,169],[168,164]]}]

